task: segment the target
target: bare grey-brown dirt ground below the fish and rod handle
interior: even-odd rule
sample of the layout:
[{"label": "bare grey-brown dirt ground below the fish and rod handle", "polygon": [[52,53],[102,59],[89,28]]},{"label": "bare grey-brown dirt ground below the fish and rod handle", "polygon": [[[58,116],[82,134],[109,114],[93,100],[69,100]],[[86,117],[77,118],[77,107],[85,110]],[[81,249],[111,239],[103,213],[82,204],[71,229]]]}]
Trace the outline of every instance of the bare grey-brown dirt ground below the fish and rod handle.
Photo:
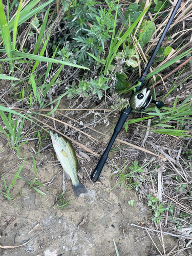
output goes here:
[{"label": "bare grey-brown dirt ground below the fish and rod handle", "polygon": [[[3,145],[5,144],[2,141],[1,146]],[[1,245],[22,245],[32,239],[28,244],[18,248],[0,249],[1,255],[115,256],[113,239],[120,255],[156,255],[153,250],[155,247],[147,233],[130,225],[139,222],[147,224],[151,222],[152,217],[150,207],[139,201],[134,189],[129,190],[123,199],[122,186],[115,187],[110,193],[117,177],[112,177],[111,170],[105,167],[101,182],[94,185],[89,181],[86,182],[88,194],[81,194],[78,199],[75,199],[71,181],[68,181],[66,199],[71,200],[71,203],[65,209],[55,208],[56,196],[62,185],[61,166],[55,165],[57,161],[53,150],[46,150],[38,157],[32,152],[31,147],[35,147],[34,142],[28,142],[20,151],[21,158],[27,156],[20,176],[33,180],[34,172],[31,166],[34,155],[36,163],[39,163],[37,181],[45,184],[55,178],[48,183],[49,190],[40,188],[47,197],[29,188],[27,183],[20,179],[11,189],[11,195],[19,195],[21,189],[22,193],[12,204],[2,195],[0,196],[0,224],[3,225],[11,218],[15,218],[5,230],[1,231]],[[5,146],[0,160],[2,172],[9,185],[19,165],[11,168],[20,160]],[[93,165],[92,162],[89,164]],[[83,175],[82,170],[80,174]],[[0,182],[0,190],[4,191],[3,180]],[[127,201],[130,199],[135,200],[134,207],[128,205]],[[151,236],[162,251],[161,242],[154,234]],[[142,240],[138,241],[140,239]],[[170,251],[178,243],[177,241],[165,236],[167,251]]]}]

